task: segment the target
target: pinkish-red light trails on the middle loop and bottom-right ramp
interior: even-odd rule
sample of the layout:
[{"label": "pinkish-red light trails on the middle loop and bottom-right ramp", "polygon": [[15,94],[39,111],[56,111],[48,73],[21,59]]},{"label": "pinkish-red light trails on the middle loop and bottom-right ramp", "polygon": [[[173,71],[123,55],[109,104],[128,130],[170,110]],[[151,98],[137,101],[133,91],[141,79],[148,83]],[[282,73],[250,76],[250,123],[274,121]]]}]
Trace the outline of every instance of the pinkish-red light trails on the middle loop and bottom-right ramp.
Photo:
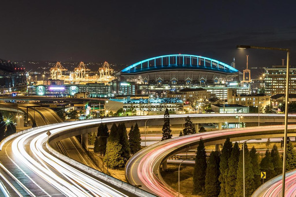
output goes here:
[{"label": "pinkish-red light trails on the middle loop and bottom-right ramp", "polygon": [[[203,137],[203,139],[205,140],[205,139],[215,138],[217,136],[227,136],[232,134],[238,134],[238,133],[241,133],[242,131],[244,133],[252,133],[252,132],[258,132],[258,131],[276,131],[279,129],[283,130],[283,126],[268,126],[268,127],[261,127],[261,128],[242,128],[242,129],[235,129],[235,130],[212,131],[212,132],[206,132],[206,133],[193,134],[189,136],[183,136],[177,139],[171,139],[171,140],[168,140],[167,142],[158,143],[158,145],[155,145],[155,146],[152,145],[151,148],[147,151],[143,149],[143,151],[140,152],[138,155],[136,155],[134,159],[136,160],[136,162],[139,162],[137,169],[130,169],[130,172],[132,170],[137,170],[137,176],[142,181],[143,185],[148,187],[148,189],[153,193],[159,196],[173,197],[173,196],[176,196],[177,193],[174,190],[172,190],[170,187],[168,187],[165,182],[161,182],[158,179],[158,177],[155,175],[155,172],[159,168],[159,164],[162,161],[162,159],[167,154],[172,152],[174,149],[180,148],[192,142],[199,141],[200,137]],[[296,126],[289,125],[289,129],[290,130],[296,129]],[[137,156],[140,158],[139,161],[136,159]],[[129,166],[127,168],[129,168]],[[296,179],[296,175],[294,177],[287,178],[287,183],[291,181],[293,183],[293,186],[290,183],[291,184],[290,188],[288,187],[286,188],[287,191],[289,190],[287,194],[291,194],[291,195],[296,194],[296,191],[295,191],[296,184],[294,184],[295,179]],[[136,184],[141,184],[141,183],[137,182]],[[281,191],[280,184],[281,183],[275,184],[276,188],[274,190],[271,189],[272,192],[268,193],[264,197],[277,196]]]}]

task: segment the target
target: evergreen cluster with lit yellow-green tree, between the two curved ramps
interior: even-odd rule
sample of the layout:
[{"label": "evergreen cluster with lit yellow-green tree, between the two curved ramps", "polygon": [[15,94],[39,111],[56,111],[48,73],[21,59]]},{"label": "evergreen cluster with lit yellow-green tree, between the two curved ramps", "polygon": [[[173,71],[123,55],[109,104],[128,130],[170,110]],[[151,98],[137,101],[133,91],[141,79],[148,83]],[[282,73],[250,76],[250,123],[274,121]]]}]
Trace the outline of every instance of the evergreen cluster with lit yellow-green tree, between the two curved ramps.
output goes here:
[{"label": "evergreen cluster with lit yellow-green tree, between the two curved ramps", "polygon": [[125,123],[113,123],[110,132],[107,124],[99,125],[93,150],[103,155],[104,162],[108,162],[111,168],[125,166],[130,156],[140,149],[141,135],[137,123],[130,127],[129,136]]}]

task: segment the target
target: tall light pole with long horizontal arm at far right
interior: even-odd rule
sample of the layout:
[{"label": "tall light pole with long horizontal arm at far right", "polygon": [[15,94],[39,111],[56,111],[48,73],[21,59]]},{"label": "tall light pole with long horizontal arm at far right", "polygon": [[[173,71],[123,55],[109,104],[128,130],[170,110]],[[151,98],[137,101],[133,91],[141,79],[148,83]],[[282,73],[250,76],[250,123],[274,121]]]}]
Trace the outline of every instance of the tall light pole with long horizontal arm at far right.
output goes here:
[{"label": "tall light pole with long horizontal arm at far right", "polygon": [[282,177],[282,197],[285,196],[285,180],[286,180],[286,158],[287,158],[287,131],[288,131],[288,101],[289,101],[289,56],[290,49],[274,48],[274,47],[255,47],[247,45],[238,45],[238,49],[265,49],[265,50],[282,50],[287,51],[287,71],[286,71],[286,97],[285,97],[285,129],[284,129],[284,154],[283,154],[283,177]]}]

